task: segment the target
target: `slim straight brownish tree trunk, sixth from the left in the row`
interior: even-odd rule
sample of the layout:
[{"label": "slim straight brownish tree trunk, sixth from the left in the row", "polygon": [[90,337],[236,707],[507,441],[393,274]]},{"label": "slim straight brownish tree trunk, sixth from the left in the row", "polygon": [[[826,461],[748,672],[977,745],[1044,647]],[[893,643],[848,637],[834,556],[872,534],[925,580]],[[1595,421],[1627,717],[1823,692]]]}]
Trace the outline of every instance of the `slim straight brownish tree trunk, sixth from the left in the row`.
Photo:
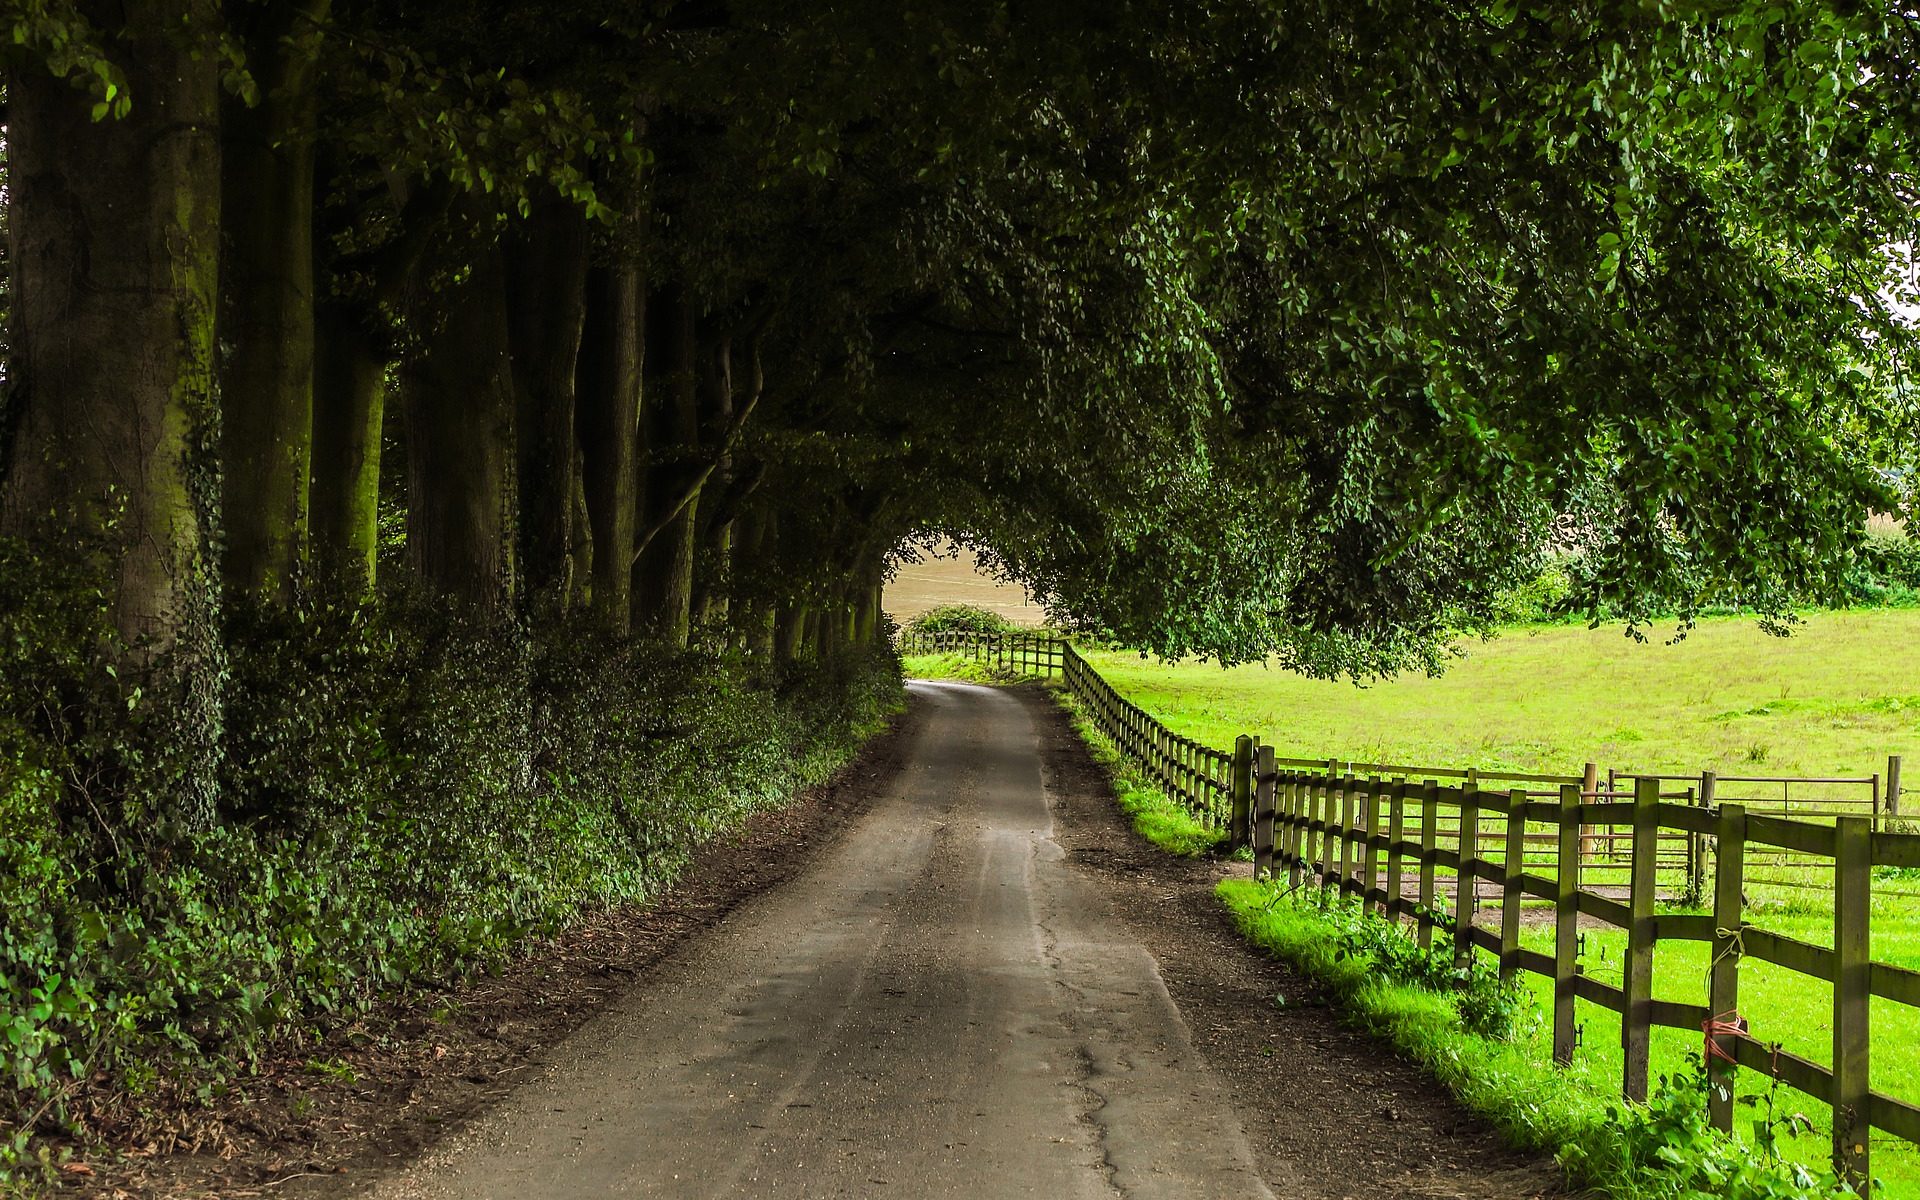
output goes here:
[{"label": "slim straight brownish tree trunk, sixth from the left in the row", "polygon": [[632,265],[588,276],[580,344],[580,453],[593,530],[593,612],[612,634],[634,628],[634,534],[639,522],[639,372],[645,292]]}]

